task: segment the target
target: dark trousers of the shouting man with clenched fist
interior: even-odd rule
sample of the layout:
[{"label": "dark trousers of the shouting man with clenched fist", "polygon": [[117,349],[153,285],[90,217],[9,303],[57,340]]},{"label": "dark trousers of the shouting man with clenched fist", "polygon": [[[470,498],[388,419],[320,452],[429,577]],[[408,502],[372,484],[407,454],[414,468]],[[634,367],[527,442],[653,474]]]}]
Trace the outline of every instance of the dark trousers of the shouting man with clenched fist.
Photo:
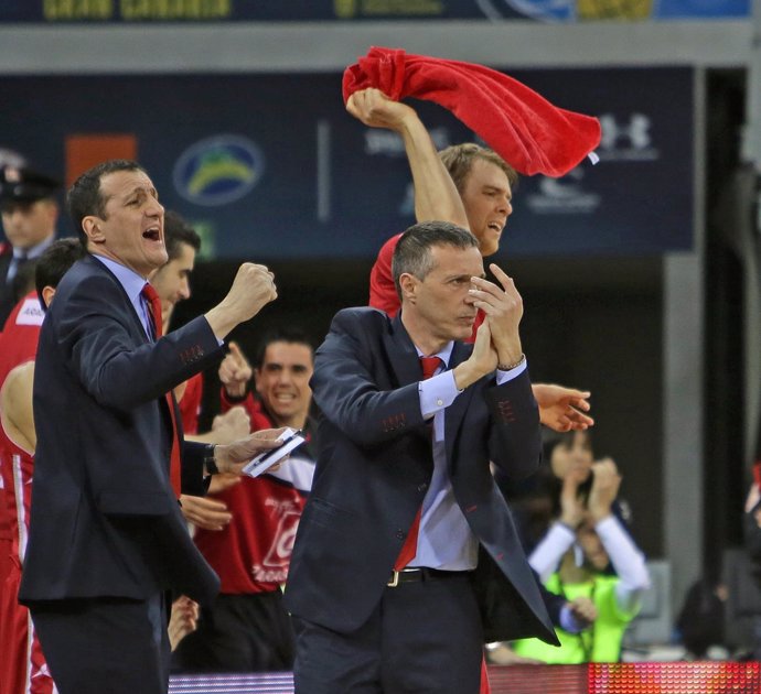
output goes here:
[{"label": "dark trousers of the shouting man with clenched fist", "polygon": [[50,600],[30,611],[61,694],[167,694],[163,594],[147,600]]}]

